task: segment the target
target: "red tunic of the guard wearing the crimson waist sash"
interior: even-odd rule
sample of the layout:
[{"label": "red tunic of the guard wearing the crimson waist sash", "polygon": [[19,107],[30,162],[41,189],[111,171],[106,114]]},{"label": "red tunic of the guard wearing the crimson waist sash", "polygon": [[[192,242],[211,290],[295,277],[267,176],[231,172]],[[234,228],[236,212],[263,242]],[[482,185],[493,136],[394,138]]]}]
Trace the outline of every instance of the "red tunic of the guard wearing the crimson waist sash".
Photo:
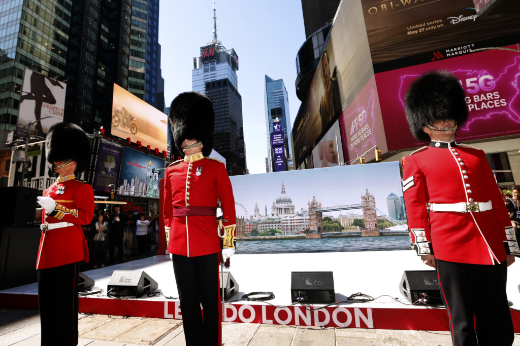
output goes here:
[{"label": "red tunic of the guard wearing the crimson waist sash", "polygon": [[219,252],[216,216],[172,216],[172,212],[178,207],[216,207],[220,200],[223,225],[236,225],[235,198],[224,163],[202,153],[186,156],[168,166],[163,188],[168,252],[188,257]]}]

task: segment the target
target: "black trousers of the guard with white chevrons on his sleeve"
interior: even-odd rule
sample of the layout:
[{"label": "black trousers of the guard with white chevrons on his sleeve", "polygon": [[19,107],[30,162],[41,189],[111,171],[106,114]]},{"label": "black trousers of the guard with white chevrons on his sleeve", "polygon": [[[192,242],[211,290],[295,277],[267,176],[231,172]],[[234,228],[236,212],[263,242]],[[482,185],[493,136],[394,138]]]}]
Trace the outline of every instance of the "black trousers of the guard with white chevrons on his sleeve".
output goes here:
[{"label": "black trousers of the guard with white chevrons on his sleeve", "polygon": [[436,260],[454,345],[511,345],[513,322],[505,286],[508,268]]}]

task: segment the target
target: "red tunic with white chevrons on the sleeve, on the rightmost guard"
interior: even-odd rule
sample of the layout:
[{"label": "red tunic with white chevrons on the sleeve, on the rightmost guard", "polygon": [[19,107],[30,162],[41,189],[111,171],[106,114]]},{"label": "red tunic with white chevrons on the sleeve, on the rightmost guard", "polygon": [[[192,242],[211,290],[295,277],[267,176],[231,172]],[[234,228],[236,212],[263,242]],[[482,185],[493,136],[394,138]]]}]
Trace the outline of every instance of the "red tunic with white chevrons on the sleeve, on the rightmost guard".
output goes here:
[{"label": "red tunic with white chevrons on the sleeve, on the rightmost guard", "polygon": [[[402,185],[418,255],[433,253],[440,260],[492,265],[504,261],[510,248],[511,253],[518,251],[484,151],[455,142],[432,142],[404,158]],[[427,203],[488,201],[492,209],[484,212],[427,209]]]}]

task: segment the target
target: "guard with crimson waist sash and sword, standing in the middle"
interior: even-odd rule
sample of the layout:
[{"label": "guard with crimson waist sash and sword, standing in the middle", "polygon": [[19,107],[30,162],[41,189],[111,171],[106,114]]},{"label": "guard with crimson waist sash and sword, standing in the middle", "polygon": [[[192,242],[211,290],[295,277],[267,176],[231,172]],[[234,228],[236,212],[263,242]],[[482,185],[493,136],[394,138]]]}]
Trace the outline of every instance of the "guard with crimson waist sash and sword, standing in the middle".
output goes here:
[{"label": "guard with crimson waist sash and sword, standing in the middle", "polygon": [[[235,253],[235,199],[224,163],[208,157],[215,122],[210,99],[181,93],[170,119],[175,147],[185,156],[166,169],[163,210],[184,336],[187,345],[221,345],[218,264],[229,266]],[[223,215],[217,224],[218,203]]]}]

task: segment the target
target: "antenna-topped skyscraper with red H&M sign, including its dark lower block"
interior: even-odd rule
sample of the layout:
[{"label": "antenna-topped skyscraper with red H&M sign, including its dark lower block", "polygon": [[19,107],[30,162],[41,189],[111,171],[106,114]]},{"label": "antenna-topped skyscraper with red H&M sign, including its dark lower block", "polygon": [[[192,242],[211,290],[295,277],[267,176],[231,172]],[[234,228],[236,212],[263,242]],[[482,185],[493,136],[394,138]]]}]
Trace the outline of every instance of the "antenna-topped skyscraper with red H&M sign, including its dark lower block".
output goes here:
[{"label": "antenna-topped skyscraper with red H&M sign, including its dark lower block", "polygon": [[238,55],[217,40],[213,1],[213,40],[193,58],[192,90],[206,94],[215,109],[213,148],[226,159],[229,175],[248,173],[245,161],[242,96],[238,92]]}]

